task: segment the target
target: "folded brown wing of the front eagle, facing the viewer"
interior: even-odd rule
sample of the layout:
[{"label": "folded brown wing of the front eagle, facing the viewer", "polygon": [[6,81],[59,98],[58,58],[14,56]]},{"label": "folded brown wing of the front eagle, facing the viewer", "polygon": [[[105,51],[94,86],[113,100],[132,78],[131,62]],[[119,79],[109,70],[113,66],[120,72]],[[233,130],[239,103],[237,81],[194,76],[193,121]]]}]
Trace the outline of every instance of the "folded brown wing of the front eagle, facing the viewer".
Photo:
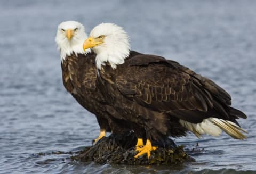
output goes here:
[{"label": "folded brown wing of the front eagle, facing the viewer", "polygon": [[212,81],[159,56],[138,55],[128,63],[116,85],[130,100],[193,123],[209,117],[229,119],[230,96]]}]

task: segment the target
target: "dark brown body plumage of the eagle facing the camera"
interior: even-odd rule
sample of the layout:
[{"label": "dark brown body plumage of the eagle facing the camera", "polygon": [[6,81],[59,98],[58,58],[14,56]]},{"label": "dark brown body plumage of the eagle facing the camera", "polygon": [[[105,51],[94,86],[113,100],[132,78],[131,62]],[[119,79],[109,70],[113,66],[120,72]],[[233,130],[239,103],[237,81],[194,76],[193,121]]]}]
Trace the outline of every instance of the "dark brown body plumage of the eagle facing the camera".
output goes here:
[{"label": "dark brown body plumage of the eagle facing the camera", "polygon": [[97,88],[97,68],[95,67],[95,54],[73,53],[66,56],[61,63],[63,85],[67,91],[81,104],[86,110],[95,114],[100,129],[115,132],[130,130],[129,125],[123,125],[122,121],[116,121],[115,118],[109,117],[106,111],[115,112],[111,106],[106,105],[105,98]]}]

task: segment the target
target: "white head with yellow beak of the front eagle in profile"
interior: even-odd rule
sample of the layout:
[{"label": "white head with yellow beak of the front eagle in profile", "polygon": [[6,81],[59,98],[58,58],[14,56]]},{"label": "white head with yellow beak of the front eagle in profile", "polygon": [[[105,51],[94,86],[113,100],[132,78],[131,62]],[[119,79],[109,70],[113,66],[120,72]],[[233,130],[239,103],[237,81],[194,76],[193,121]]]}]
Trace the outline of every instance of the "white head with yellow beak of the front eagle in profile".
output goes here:
[{"label": "white head with yellow beak of the front eagle in profile", "polygon": [[92,48],[97,54],[95,61],[98,69],[105,65],[105,62],[109,62],[115,69],[116,65],[124,63],[125,58],[129,56],[129,37],[122,27],[114,23],[101,23],[92,29],[83,48]]}]

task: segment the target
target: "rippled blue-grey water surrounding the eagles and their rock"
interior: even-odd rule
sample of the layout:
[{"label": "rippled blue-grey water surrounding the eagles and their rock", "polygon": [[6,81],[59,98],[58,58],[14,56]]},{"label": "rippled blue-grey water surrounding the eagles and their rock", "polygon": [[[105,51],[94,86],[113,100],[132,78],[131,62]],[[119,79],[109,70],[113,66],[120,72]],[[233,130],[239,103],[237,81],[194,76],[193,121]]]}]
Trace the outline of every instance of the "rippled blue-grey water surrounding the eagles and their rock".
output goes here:
[{"label": "rippled blue-grey water surrounding the eagles and their rock", "polygon": [[[1,1],[0,173],[254,173],[256,172],[256,1]],[[95,117],[61,81],[54,43],[65,20],[115,22],[132,48],[179,61],[213,79],[243,110],[248,139],[227,135],[178,138],[196,159],[177,168],[71,162],[98,136]]]}]

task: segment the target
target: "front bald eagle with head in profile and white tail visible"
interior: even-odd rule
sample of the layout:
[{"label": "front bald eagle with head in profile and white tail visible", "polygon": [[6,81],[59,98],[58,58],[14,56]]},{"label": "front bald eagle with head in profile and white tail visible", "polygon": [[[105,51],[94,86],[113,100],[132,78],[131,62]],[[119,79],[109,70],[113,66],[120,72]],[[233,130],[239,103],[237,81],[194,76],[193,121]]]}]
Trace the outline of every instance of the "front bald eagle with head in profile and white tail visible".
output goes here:
[{"label": "front bald eagle with head in profile and white tail visible", "polygon": [[[122,27],[102,23],[94,27],[83,44],[97,54],[99,88],[138,137],[135,158],[157,147],[168,136],[185,136],[187,131],[219,136],[222,131],[236,139],[246,136],[236,119],[246,115],[231,107],[230,95],[189,68],[156,55],[130,51]],[[143,137],[146,136],[146,144]]]}]

